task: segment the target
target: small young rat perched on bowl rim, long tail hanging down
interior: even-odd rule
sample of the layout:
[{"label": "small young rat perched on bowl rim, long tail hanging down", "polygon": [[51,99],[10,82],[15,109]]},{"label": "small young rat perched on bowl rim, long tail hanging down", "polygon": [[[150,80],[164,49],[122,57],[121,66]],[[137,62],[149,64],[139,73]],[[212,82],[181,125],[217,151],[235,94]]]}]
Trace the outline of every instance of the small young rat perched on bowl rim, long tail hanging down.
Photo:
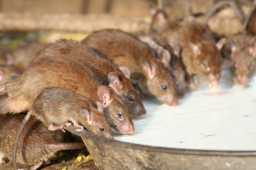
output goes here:
[{"label": "small young rat perched on bowl rim, long tail hanging down", "polygon": [[[22,130],[28,122],[30,116],[34,116],[49,130],[59,130],[65,132],[64,126],[74,126],[81,129],[89,129],[92,133],[114,139],[111,129],[103,115],[103,105],[100,101],[95,101],[98,109],[95,109],[89,100],[76,92],[68,89],[51,87],[44,89],[25,116],[13,146],[13,162],[16,162],[16,150]],[[82,125],[80,125],[81,123]]]}]

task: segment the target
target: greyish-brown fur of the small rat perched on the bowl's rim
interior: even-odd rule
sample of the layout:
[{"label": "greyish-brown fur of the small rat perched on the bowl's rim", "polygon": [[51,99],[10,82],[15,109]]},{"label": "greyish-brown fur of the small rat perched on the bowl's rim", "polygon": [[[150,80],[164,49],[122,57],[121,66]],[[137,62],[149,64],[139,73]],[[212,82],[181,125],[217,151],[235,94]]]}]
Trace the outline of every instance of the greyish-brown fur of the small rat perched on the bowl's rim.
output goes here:
[{"label": "greyish-brown fur of the small rat perched on the bowl's rim", "polygon": [[[91,124],[81,116],[81,107],[85,107],[90,113]],[[60,126],[75,119],[92,133],[114,139],[102,111],[95,109],[87,98],[64,88],[44,89],[37,96],[30,112],[47,127],[52,124]],[[99,128],[103,128],[104,131],[100,131]]]}]

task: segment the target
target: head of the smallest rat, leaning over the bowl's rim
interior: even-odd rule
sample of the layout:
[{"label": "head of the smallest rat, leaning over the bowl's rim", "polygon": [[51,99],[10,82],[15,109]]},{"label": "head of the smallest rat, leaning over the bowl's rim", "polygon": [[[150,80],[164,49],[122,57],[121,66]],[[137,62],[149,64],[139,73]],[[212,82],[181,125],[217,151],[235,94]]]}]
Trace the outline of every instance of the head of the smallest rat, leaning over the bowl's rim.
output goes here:
[{"label": "head of the smallest rat, leaning over the bowl's rim", "polygon": [[80,108],[80,114],[85,119],[81,121],[81,123],[83,124],[84,121],[87,121],[85,124],[88,126],[86,127],[92,133],[109,139],[114,139],[109,124],[103,115],[102,103],[100,101],[95,101],[95,103],[98,106],[97,109],[95,109],[91,104],[87,104],[87,107],[82,106]]}]

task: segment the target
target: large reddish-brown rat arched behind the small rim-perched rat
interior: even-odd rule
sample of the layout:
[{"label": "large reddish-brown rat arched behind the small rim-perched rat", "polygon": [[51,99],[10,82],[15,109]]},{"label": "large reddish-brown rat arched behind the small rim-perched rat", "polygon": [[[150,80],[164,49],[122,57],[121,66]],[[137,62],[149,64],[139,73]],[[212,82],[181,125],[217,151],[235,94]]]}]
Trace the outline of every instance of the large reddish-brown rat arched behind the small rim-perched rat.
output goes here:
[{"label": "large reddish-brown rat arched behind the small rim-perched rat", "polygon": [[47,87],[72,90],[88,98],[94,107],[97,107],[95,101],[100,101],[112,128],[124,134],[135,131],[129,110],[122,102],[120,87],[114,82],[108,87],[101,85],[91,67],[54,50],[40,50],[18,78],[0,86],[1,92],[8,94],[0,107],[0,113],[29,110],[36,97]]}]

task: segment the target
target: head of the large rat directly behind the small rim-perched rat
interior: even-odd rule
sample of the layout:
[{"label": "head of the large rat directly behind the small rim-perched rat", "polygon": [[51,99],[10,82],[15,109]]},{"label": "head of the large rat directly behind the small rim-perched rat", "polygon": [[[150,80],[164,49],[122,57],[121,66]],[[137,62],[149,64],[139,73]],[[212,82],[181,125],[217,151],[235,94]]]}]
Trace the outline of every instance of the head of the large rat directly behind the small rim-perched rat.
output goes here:
[{"label": "head of the large rat directly behind the small rim-perched rat", "polygon": [[116,83],[110,83],[108,87],[100,86],[97,94],[110,127],[123,134],[133,133],[134,125],[128,108],[123,104],[121,88]]}]

